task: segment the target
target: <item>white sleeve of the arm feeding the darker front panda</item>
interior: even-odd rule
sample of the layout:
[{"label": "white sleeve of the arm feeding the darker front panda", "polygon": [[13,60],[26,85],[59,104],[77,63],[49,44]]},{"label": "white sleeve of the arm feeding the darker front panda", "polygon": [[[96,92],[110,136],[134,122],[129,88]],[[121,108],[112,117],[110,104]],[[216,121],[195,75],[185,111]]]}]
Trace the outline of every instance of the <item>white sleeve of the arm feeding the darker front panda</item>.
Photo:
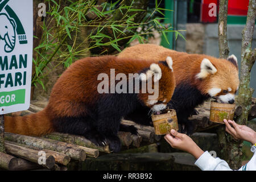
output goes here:
[{"label": "white sleeve of the arm feeding the darker front panda", "polygon": [[203,171],[230,171],[229,164],[220,158],[213,158],[208,151],[200,156],[195,162],[195,165]]}]

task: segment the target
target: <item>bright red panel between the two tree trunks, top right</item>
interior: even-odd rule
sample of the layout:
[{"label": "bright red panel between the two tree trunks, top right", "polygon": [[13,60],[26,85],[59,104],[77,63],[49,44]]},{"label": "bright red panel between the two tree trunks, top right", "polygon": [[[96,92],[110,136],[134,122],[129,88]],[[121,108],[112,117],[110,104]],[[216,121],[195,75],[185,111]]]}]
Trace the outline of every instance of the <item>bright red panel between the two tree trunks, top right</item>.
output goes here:
[{"label": "bright red panel between the two tree trunks, top right", "polygon": [[229,0],[228,15],[247,15],[249,0]]}]

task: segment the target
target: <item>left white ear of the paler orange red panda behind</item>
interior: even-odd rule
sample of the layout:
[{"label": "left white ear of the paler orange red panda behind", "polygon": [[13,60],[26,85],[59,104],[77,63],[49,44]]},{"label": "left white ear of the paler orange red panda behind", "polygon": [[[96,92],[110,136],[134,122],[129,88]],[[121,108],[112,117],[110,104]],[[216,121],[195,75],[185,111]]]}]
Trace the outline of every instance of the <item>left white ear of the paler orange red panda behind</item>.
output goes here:
[{"label": "left white ear of the paler orange red panda behind", "polygon": [[204,79],[208,77],[210,74],[214,74],[217,72],[217,69],[214,67],[214,65],[210,62],[209,59],[203,59],[200,66],[200,73],[197,73],[196,78]]}]

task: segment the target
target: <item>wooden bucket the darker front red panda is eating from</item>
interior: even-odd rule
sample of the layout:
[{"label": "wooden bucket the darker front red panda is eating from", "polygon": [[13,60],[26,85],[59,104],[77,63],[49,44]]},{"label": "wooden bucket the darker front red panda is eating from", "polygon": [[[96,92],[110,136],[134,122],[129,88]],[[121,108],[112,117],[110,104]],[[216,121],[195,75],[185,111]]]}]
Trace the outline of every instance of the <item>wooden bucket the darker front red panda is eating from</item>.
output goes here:
[{"label": "wooden bucket the darker front red panda is eating from", "polygon": [[173,109],[167,109],[166,111],[167,113],[164,114],[151,115],[156,135],[170,134],[171,129],[179,130],[176,111]]}]

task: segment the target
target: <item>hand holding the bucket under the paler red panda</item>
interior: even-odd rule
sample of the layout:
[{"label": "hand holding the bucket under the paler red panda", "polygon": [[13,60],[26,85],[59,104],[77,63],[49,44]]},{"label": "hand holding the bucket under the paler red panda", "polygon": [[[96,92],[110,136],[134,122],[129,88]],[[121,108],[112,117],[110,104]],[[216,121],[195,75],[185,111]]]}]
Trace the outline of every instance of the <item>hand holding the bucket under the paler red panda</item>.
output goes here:
[{"label": "hand holding the bucket under the paler red panda", "polygon": [[[246,140],[252,144],[256,143],[256,132],[253,129],[250,129],[250,127],[238,125],[236,122],[231,120],[226,121],[226,119],[224,119],[224,123],[226,125],[226,131],[235,139]],[[232,124],[233,127],[230,126],[230,124]]]}]

